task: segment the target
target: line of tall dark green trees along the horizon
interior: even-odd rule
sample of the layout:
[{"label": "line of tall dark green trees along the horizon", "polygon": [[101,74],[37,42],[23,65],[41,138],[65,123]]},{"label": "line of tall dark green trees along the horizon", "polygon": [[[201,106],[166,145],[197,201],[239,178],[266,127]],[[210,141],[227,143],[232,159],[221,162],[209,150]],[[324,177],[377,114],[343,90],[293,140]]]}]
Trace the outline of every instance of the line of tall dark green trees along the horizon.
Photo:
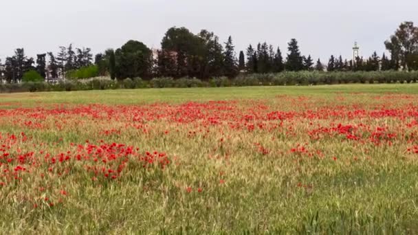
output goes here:
[{"label": "line of tall dark green trees along the horizon", "polygon": [[[34,58],[25,56],[23,48],[16,49],[5,60],[3,78],[19,82],[28,71],[36,71],[42,78],[110,76],[112,79],[154,77],[234,78],[240,72],[269,74],[283,71],[386,71],[418,69],[418,27],[412,22],[401,23],[395,34],[384,42],[390,56],[374,52],[369,58],[343,59],[331,55],[326,64],[320,59],[314,63],[311,55],[304,56],[298,41],[287,44],[285,58],[281,48],[266,42],[249,45],[236,51],[232,37],[221,43],[214,32],[201,30],[193,34],[185,27],[171,27],[155,51],[140,41],[128,41],[118,49],[96,54],[89,47],[76,48],[70,44],[60,47],[56,54],[47,52]],[[48,59],[48,61],[47,61]]]}]

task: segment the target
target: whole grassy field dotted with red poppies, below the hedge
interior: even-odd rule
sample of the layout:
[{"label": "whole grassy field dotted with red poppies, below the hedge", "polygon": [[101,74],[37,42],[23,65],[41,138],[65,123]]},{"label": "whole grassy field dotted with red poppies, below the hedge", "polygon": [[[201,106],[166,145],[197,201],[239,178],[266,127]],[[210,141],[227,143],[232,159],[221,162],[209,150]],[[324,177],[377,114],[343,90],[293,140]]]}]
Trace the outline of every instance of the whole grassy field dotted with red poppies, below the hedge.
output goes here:
[{"label": "whole grassy field dotted with red poppies, below the hedge", "polygon": [[418,233],[418,85],[0,95],[0,231]]}]

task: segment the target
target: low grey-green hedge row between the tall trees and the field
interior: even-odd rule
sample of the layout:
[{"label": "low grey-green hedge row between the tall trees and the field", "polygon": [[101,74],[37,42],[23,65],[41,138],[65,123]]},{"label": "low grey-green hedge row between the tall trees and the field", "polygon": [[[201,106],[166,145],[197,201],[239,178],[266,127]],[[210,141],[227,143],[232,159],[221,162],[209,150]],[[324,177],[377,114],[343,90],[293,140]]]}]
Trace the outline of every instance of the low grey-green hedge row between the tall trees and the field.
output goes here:
[{"label": "low grey-green hedge row between the tall trees and the field", "polygon": [[244,87],[268,85],[333,85],[345,83],[411,83],[418,82],[418,71],[358,71],[358,72],[285,72],[280,74],[247,74],[232,80],[226,77],[199,80],[197,78],[126,78],[122,81],[91,79],[62,81],[58,84],[27,82],[1,84],[0,92],[23,91],[85,91],[104,89],[139,89],[166,87]]}]

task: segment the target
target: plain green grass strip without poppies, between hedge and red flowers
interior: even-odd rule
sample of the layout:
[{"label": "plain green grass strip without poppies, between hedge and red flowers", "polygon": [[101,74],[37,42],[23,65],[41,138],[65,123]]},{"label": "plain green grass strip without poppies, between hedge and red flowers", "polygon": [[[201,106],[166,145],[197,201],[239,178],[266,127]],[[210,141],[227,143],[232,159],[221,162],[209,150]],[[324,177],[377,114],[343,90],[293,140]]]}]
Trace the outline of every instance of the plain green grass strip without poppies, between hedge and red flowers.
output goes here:
[{"label": "plain green grass strip without poppies, between hedge and red flowers", "polygon": [[22,104],[141,104],[153,102],[188,102],[207,100],[269,99],[277,95],[334,96],[336,93],[406,93],[417,94],[418,84],[393,85],[319,85],[289,87],[221,87],[189,89],[124,89],[106,91],[70,91],[0,94],[1,102]]}]

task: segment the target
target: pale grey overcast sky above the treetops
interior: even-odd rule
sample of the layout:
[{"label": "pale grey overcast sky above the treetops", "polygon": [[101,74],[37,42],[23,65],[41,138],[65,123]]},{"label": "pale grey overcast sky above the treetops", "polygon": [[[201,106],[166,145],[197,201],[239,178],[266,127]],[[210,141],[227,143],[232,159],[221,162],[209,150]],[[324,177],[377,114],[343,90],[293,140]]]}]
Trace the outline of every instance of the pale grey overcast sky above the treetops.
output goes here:
[{"label": "pale grey overcast sky above the treetops", "polygon": [[36,57],[69,43],[94,53],[129,39],[159,47],[172,26],[206,29],[221,41],[231,35],[237,51],[267,41],[285,56],[296,38],[315,59],[351,58],[354,41],[362,56],[382,54],[401,21],[418,24],[417,12],[417,0],[2,0],[0,58],[17,47]]}]

